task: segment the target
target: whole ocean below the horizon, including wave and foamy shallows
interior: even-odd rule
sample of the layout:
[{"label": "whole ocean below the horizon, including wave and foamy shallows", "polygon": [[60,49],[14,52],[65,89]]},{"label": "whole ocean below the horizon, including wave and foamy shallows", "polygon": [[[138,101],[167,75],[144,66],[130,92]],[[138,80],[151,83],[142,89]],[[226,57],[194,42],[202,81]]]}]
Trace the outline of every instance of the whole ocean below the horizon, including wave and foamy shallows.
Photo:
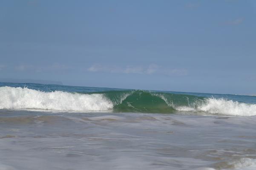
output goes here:
[{"label": "whole ocean below the horizon, including wave and foamy shallows", "polygon": [[255,170],[256,96],[0,82],[0,170]]}]

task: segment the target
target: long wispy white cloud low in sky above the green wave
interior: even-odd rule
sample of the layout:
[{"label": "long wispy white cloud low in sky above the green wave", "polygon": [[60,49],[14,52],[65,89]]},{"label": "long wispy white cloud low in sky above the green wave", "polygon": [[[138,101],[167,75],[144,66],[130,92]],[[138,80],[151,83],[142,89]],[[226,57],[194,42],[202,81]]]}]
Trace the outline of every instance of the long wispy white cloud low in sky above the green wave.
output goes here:
[{"label": "long wispy white cloud low in sky above the green wave", "polygon": [[87,69],[90,72],[105,72],[105,73],[121,73],[121,74],[163,74],[163,75],[176,75],[184,76],[187,75],[186,69],[178,68],[164,68],[160,65],[150,64],[148,66],[131,66],[125,67],[118,66],[107,66],[101,64],[94,64]]}]

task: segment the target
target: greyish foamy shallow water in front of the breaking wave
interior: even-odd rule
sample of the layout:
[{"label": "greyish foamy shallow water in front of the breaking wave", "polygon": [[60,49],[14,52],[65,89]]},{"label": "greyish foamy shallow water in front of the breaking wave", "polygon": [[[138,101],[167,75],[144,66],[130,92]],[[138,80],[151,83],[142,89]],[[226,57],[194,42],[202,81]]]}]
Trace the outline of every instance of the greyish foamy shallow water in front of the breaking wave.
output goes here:
[{"label": "greyish foamy shallow water in front of the breaking wave", "polygon": [[2,110],[0,129],[0,170],[256,168],[256,116]]}]

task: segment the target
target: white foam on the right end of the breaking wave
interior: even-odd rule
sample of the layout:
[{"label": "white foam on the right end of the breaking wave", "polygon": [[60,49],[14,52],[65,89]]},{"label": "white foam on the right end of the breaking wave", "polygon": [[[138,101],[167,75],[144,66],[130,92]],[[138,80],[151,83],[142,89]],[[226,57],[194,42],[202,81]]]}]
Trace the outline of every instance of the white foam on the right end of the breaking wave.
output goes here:
[{"label": "white foam on the right end of the breaking wave", "polygon": [[212,114],[225,114],[233,116],[254,116],[256,115],[256,104],[240,103],[227,99],[208,98],[206,102],[197,108]]}]

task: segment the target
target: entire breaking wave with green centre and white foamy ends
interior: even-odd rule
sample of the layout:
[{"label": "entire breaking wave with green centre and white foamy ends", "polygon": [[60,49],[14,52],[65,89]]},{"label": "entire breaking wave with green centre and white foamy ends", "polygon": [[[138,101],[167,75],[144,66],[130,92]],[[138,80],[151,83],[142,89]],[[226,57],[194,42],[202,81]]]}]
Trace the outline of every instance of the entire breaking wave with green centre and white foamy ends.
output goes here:
[{"label": "entire breaking wave with green centre and white foamy ends", "polygon": [[0,109],[54,111],[112,111],[143,113],[204,112],[235,116],[256,115],[256,104],[227,99],[149,91],[43,92],[21,87],[0,87]]}]

